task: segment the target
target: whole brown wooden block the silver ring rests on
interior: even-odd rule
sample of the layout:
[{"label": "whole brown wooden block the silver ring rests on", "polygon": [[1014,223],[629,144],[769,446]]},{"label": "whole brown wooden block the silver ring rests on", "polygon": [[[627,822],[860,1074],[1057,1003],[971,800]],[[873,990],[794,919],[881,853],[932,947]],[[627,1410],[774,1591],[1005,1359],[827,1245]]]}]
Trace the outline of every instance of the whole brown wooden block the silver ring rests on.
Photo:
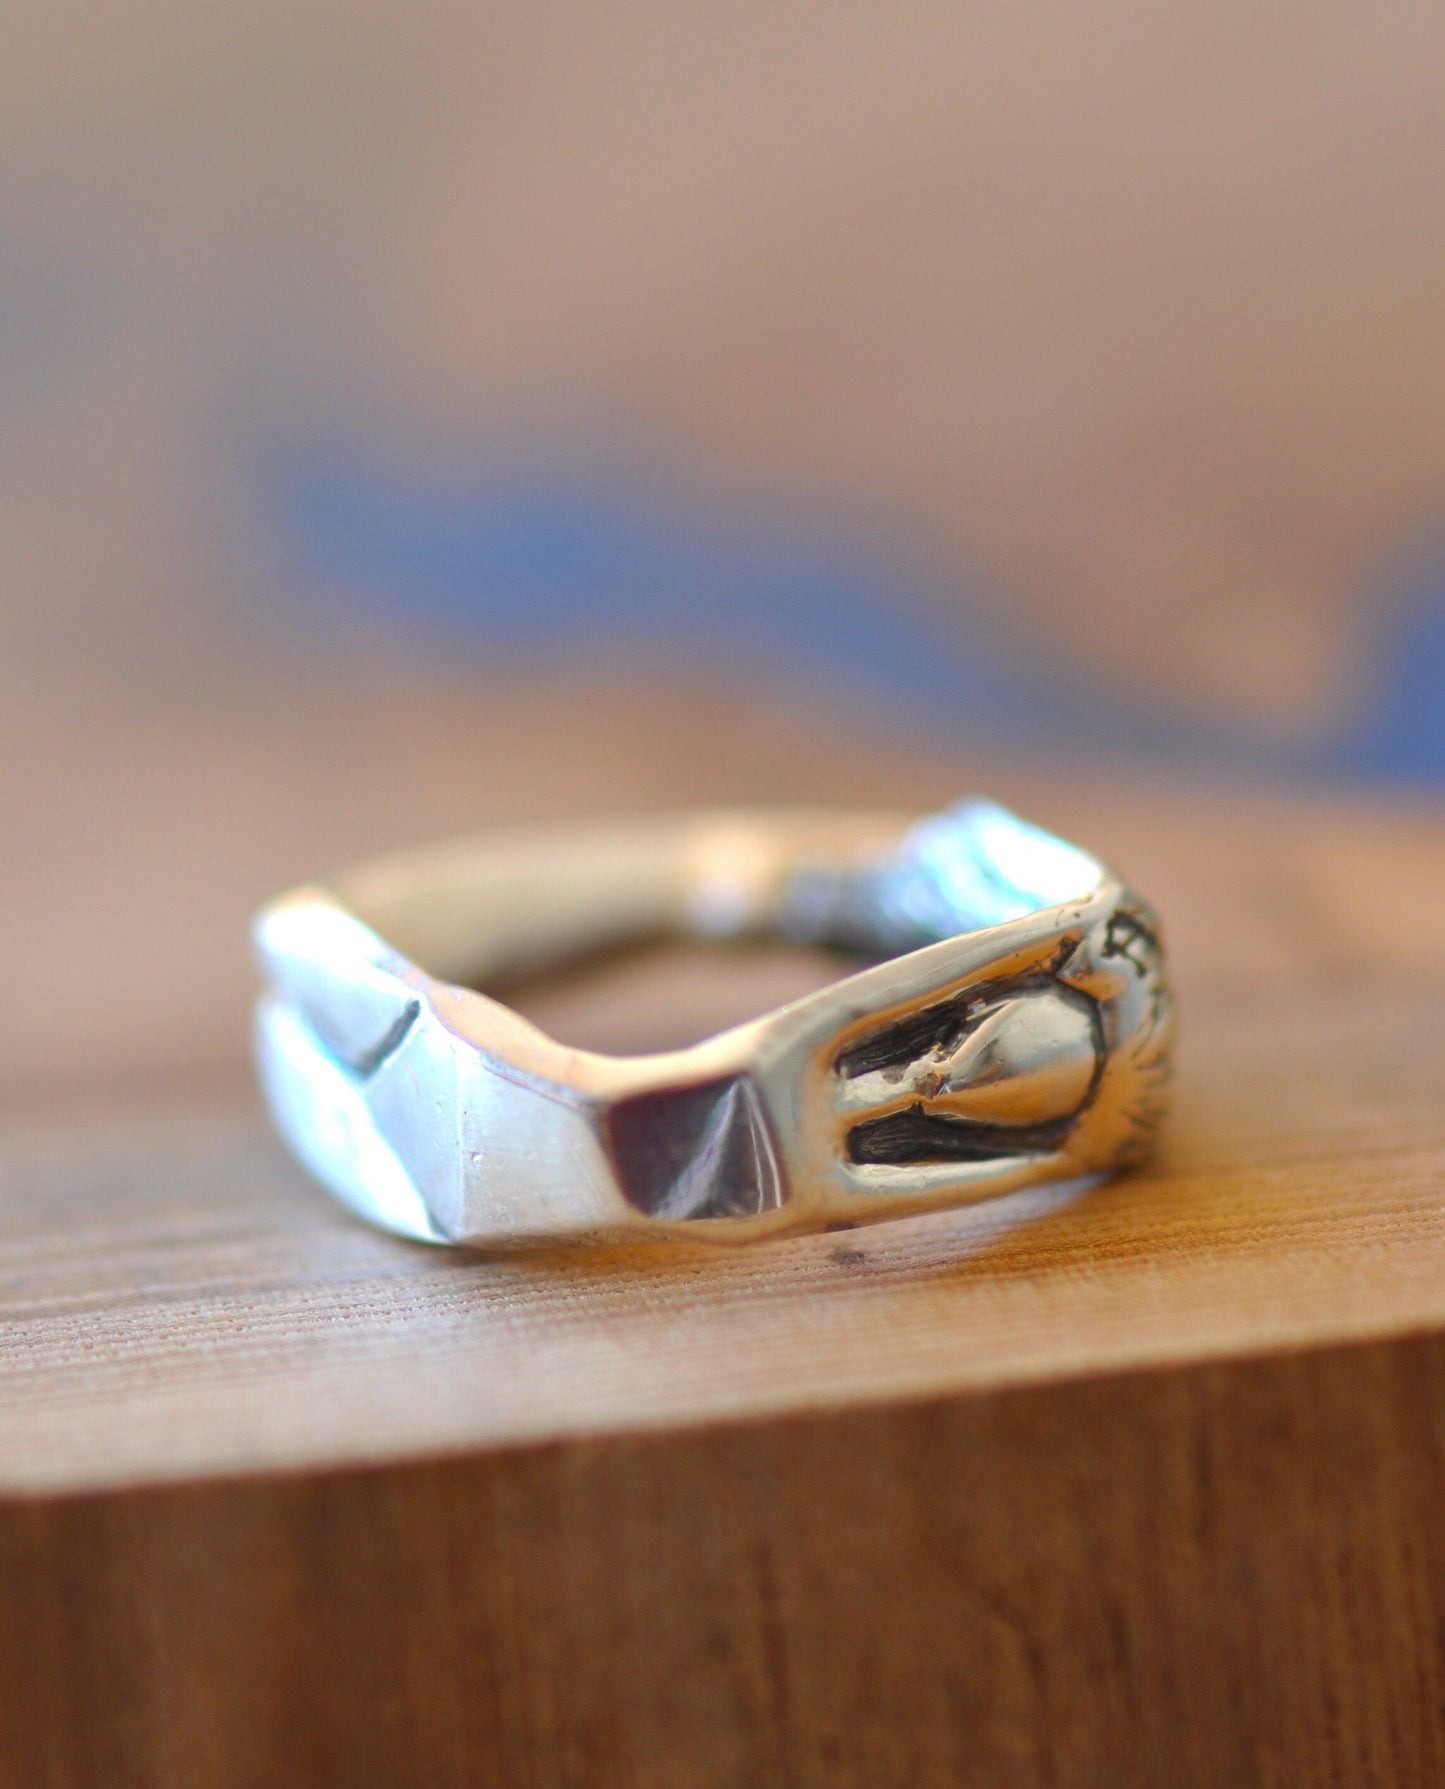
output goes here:
[{"label": "whole brown wooden block the silver ring rests on", "polygon": [[[445,762],[522,753],[538,712],[442,728]],[[739,1254],[374,1234],[254,1106],[240,955],[206,970],[216,900],[238,925],[306,812],[327,855],[386,819],[322,814],[306,759],[290,843],[254,828],[245,873],[197,843],[193,907],[127,909],[141,966],[199,966],[145,1073],[104,1072],[143,984],[93,946],[75,1072],[55,1043],[27,1077],[11,1036],[0,1780],[1445,1780],[1445,825],[946,755],[919,776],[735,719],[699,708],[651,782],[615,712],[553,728],[535,807],[715,798],[728,739],[739,798],[987,780],[1170,921],[1159,1159]],[[417,834],[488,818],[456,773],[422,782]],[[204,839],[190,793],[143,785],[152,843]],[[68,812],[29,869],[36,1013]],[[91,937],[139,862],[93,891]],[[637,1043],[808,973],[683,954],[535,1011]],[[188,1057],[188,1023],[215,1048]]]}]

